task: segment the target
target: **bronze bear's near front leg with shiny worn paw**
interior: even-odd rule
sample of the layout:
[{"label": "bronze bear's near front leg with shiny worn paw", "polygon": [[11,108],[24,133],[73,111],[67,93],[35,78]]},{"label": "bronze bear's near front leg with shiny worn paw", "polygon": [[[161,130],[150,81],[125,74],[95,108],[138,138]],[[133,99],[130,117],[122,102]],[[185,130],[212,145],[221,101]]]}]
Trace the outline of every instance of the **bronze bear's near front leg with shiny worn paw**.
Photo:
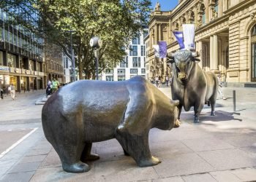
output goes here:
[{"label": "bronze bear's near front leg with shiny worn paw", "polygon": [[159,159],[151,155],[148,146],[148,132],[141,135],[135,135],[128,130],[116,130],[116,139],[123,147],[124,151],[135,159],[140,167],[148,167],[160,163]]}]

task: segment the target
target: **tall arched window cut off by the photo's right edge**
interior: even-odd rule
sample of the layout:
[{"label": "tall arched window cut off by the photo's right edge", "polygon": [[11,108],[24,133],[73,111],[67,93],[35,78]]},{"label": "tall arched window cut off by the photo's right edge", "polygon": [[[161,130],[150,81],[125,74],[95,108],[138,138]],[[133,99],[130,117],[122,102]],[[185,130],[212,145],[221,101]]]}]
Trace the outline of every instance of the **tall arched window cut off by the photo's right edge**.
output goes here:
[{"label": "tall arched window cut off by the photo's right edge", "polygon": [[252,74],[251,74],[251,80],[252,82],[256,82],[256,25],[252,28]]}]

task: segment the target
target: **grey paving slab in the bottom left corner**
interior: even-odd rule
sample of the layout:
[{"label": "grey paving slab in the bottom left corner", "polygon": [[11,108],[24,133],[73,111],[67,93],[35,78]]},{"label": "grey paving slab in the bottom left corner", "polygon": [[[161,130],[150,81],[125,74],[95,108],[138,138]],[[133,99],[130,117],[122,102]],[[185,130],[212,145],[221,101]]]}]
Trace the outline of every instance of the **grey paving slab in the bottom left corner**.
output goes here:
[{"label": "grey paving slab in the bottom left corner", "polygon": [[31,172],[24,172],[24,173],[12,173],[7,174],[4,176],[4,179],[1,180],[3,182],[26,182],[31,179],[31,177],[34,175],[34,171]]}]

